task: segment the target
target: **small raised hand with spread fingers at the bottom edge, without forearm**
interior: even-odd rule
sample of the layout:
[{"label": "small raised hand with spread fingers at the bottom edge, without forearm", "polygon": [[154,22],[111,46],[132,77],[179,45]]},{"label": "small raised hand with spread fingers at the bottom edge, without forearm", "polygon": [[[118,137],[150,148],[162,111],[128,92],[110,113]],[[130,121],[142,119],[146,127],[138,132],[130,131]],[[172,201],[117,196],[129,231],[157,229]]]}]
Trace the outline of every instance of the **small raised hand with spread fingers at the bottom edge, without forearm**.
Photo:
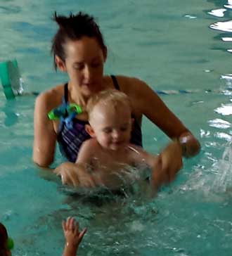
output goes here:
[{"label": "small raised hand with spread fingers at the bottom edge, without forearm", "polygon": [[66,240],[66,246],[72,248],[78,248],[79,244],[82,242],[82,238],[86,233],[87,229],[84,228],[79,233],[79,223],[75,222],[73,217],[68,217],[66,221],[62,222],[63,233]]}]

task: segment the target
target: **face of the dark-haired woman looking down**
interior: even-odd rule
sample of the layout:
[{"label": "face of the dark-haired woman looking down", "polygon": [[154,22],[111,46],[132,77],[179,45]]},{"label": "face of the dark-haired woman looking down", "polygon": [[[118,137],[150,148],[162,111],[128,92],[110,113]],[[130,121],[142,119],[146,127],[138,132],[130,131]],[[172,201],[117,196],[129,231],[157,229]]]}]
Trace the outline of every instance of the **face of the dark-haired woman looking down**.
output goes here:
[{"label": "face of the dark-haired woman looking down", "polygon": [[65,70],[71,86],[87,98],[103,89],[103,50],[94,37],[82,37],[65,44]]}]

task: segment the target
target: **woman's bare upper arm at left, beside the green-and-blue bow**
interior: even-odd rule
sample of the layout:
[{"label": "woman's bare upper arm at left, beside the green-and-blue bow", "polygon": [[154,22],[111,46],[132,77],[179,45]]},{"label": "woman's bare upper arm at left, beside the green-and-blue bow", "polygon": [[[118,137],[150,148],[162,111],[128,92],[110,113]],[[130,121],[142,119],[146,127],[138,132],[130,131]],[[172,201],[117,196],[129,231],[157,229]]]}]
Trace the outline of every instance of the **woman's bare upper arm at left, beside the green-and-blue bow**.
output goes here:
[{"label": "woman's bare upper arm at left, beside the green-and-blue bow", "polygon": [[53,162],[56,148],[56,132],[53,122],[47,117],[51,110],[51,93],[40,94],[34,106],[34,143],[33,156],[34,163],[40,167],[49,167]]}]

